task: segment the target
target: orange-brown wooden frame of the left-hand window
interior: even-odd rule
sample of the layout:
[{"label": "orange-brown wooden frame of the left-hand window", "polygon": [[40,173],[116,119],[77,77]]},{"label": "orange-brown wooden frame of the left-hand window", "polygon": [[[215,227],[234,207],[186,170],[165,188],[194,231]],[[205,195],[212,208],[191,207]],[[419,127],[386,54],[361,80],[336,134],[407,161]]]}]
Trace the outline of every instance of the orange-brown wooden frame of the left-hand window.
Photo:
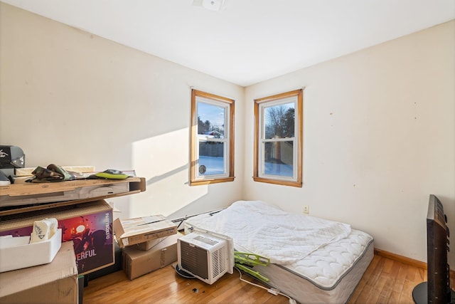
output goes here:
[{"label": "orange-brown wooden frame of the left-hand window", "polygon": [[[225,103],[228,105],[228,127],[225,128],[225,137],[227,138],[227,151],[225,152],[225,159],[228,164],[225,166],[227,174],[225,177],[198,177],[197,166],[198,166],[198,112],[197,112],[197,99],[205,98],[213,100],[215,103]],[[235,113],[235,100],[225,98],[222,96],[205,93],[200,90],[191,90],[191,159],[190,159],[190,185],[196,186],[201,184],[215,184],[220,182],[232,182],[235,179],[234,176],[234,113]],[[227,135],[227,136],[226,136]]]}]

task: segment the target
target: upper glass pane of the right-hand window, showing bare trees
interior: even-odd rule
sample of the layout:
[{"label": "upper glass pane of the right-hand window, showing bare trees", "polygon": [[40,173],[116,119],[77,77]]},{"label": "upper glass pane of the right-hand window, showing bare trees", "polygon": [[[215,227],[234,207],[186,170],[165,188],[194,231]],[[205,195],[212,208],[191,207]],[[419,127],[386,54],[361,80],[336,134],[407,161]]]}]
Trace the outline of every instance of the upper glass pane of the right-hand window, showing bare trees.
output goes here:
[{"label": "upper glass pane of the right-hand window, showing bare trees", "polygon": [[294,103],[264,108],[264,138],[294,137]]}]

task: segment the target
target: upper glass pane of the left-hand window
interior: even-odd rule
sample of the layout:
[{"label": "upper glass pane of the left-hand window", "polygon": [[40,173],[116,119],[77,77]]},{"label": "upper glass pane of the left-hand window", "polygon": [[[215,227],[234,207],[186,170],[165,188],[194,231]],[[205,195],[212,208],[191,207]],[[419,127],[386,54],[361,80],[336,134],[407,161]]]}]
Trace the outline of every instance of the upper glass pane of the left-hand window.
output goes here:
[{"label": "upper glass pane of the left-hand window", "polygon": [[198,134],[209,138],[224,138],[225,108],[198,102]]}]

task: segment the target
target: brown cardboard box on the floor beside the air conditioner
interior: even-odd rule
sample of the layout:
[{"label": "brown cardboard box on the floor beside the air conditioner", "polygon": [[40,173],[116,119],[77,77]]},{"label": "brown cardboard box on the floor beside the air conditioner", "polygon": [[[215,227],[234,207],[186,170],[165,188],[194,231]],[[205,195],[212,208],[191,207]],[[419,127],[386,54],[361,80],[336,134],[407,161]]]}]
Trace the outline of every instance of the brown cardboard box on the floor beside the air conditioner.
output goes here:
[{"label": "brown cardboard box on the floor beside the air conditioner", "polygon": [[166,237],[149,251],[141,251],[134,247],[123,249],[123,270],[129,280],[144,276],[159,268],[177,261],[177,239],[183,236],[180,232]]}]

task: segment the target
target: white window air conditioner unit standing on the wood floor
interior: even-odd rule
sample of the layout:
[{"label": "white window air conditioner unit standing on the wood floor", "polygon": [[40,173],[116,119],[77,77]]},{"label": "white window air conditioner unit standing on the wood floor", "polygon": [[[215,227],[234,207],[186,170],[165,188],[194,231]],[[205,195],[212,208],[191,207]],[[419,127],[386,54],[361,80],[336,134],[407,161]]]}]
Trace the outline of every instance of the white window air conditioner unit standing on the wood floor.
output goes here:
[{"label": "white window air conditioner unit standing on the wood floor", "polygon": [[234,271],[234,245],[229,236],[194,231],[177,241],[178,267],[208,284]]}]

